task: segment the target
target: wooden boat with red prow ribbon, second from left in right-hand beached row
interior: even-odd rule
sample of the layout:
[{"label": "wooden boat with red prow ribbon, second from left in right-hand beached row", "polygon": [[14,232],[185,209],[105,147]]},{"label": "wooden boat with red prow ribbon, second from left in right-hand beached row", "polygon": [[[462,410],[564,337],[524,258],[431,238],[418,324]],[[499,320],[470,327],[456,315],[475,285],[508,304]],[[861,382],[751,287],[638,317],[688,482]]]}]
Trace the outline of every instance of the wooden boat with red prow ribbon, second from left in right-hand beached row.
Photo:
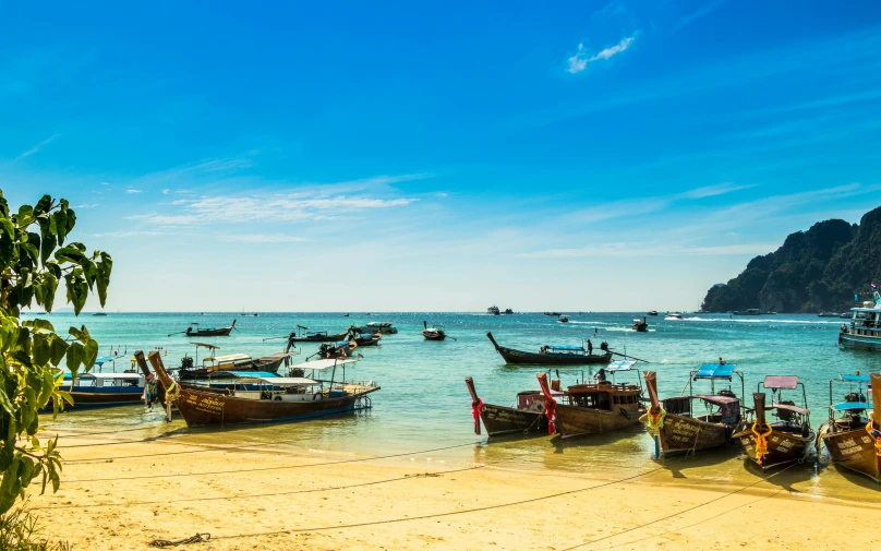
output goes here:
[{"label": "wooden boat with red prow ribbon, second from left in right-hand beached row", "polygon": [[[599,376],[594,375],[596,382],[571,385],[563,396],[555,395],[548,387],[545,373],[539,373],[536,376],[545,396],[548,432],[553,432],[551,428],[554,428],[565,439],[639,424],[639,416],[645,412],[639,403],[641,385],[614,382],[615,373],[631,371],[635,364],[635,361],[615,362],[608,369],[601,369]],[[612,373],[613,381],[605,380],[606,372]]]}]

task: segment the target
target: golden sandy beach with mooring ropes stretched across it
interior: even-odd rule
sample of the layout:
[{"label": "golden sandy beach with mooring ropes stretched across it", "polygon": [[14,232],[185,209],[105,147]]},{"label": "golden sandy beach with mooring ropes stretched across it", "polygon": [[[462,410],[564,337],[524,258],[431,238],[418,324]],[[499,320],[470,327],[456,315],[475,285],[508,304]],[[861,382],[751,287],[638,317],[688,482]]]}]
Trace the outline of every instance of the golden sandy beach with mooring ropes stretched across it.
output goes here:
[{"label": "golden sandy beach with mooring ropes stretched across it", "polygon": [[[661,465],[625,479],[510,464],[376,457],[186,435],[62,435],[57,494],[34,495],[44,534],[75,549],[870,549],[881,506],[750,486],[674,483]],[[234,435],[234,433],[231,433]],[[143,436],[142,436],[143,438]],[[76,447],[72,447],[76,446]],[[63,447],[63,446],[62,446]],[[304,448],[305,450],[305,448]],[[837,530],[846,528],[846,538]],[[769,547],[770,546],[770,547]]]}]

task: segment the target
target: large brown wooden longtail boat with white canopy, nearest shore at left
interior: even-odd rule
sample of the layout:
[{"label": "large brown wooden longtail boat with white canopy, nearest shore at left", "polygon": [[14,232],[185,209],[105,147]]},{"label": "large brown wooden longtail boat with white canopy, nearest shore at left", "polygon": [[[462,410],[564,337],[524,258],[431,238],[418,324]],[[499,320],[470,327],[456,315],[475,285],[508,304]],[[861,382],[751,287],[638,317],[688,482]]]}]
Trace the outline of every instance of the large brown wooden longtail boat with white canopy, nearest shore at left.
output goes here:
[{"label": "large brown wooden longtail boat with white canopy, nearest shore at left", "polygon": [[[144,352],[137,351],[135,356]],[[314,381],[305,378],[254,378],[240,380],[244,386],[262,390],[180,387],[162,366],[158,352],[149,354],[149,362],[167,388],[188,427],[294,421],[371,407],[369,394],[379,387],[373,383]],[[343,367],[345,370],[345,367]],[[343,374],[345,380],[345,374]],[[326,385],[326,386],[325,386]]]}]

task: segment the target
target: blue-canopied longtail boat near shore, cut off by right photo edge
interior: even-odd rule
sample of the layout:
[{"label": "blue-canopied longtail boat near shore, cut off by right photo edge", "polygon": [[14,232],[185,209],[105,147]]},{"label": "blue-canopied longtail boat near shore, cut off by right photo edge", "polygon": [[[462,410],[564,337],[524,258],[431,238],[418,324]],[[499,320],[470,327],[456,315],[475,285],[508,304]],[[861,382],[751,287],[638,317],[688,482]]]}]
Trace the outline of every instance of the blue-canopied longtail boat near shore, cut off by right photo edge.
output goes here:
[{"label": "blue-canopied longtail boat near shore, cut off by right photo edge", "polygon": [[[833,382],[846,382],[856,385],[856,391],[845,395],[845,402],[829,406],[829,421],[818,431],[817,451],[820,444],[835,465],[866,475],[876,482],[881,482],[881,374],[841,375],[829,382],[830,403],[833,402]],[[866,402],[865,385],[871,385],[872,403]],[[872,416],[862,417],[864,411],[872,409]],[[876,419],[876,420],[873,420]]]}]

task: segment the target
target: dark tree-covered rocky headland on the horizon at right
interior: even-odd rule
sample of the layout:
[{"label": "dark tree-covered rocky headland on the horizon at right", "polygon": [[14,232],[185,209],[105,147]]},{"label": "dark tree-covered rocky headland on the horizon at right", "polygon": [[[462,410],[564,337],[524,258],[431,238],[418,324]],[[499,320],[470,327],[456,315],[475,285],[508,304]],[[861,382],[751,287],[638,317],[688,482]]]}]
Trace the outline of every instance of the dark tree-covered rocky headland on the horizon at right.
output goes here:
[{"label": "dark tree-covered rocky headland on the horizon at right", "polygon": [[859,224],[820,221],[791,233],[776,251],[756,256],[727,284],[707,291],[701,310],[731,312],[846,312],[871,298],[872,278],[881,275],[881,207]]}]

